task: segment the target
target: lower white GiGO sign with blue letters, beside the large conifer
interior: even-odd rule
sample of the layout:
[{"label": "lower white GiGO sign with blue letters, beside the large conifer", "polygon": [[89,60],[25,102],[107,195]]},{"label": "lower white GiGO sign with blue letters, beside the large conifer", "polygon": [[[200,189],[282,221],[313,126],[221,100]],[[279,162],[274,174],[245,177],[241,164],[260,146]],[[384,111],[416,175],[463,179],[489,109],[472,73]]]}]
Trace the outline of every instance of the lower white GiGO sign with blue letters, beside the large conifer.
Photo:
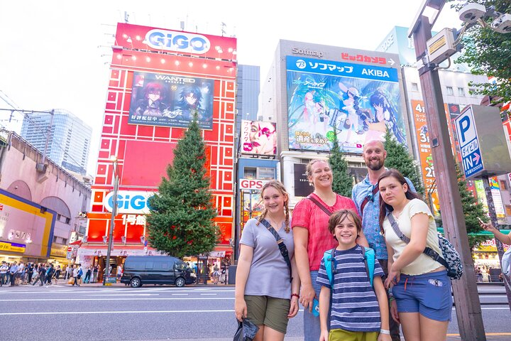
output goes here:
[{"label": "lower white GiGO sign with blue letters, beside the large conifer", "polygon": [[[117,213],[149,213],[148,199],[155,195],[154,192],[141,192],[136,190],[119,190],[117,192]],[[114,207],[114,192],[110,192],[103,199],[103,205],[107,211],[112,212]]]}]

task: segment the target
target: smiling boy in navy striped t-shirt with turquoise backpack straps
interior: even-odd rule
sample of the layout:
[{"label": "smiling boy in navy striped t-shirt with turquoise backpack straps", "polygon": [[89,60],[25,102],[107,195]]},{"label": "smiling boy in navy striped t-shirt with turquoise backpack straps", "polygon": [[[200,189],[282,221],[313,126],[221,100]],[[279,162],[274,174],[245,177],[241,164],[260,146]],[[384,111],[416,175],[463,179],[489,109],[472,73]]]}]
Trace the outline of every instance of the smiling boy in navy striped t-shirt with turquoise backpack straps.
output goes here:
[{"label": "smiling boy in navy striped t-shirt with turquoise backpack straps", "polygon": [[353,210],[340,210],[330,217],[329,231],[339,245],[333,251],[333,288],[326,274],[324,259],[317,276],[317,283],[322,285],[319,295],[319,341],[392,340],[387,295],[382,281],[383,270],[375,260],[374,287],[371,286],[362,249],[356,244],[361,228],[361,220]]}]

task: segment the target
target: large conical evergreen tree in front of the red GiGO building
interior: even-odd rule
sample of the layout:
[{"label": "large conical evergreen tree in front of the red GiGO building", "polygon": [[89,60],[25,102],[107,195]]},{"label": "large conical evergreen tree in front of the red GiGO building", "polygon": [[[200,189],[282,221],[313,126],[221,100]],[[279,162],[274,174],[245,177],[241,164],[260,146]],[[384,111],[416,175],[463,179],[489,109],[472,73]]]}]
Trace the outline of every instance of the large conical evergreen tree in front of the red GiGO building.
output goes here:
[{"label": "large conical evergreen tree in front of the red GiGO building", "polygon": [[180,258],[214,249],[219,229],[213,221],[216,209],[205,163],[205,145],[195,114],[185,136],[177,142],[174,161],[167,166],[158,194],[149,200],[151,247]]}]

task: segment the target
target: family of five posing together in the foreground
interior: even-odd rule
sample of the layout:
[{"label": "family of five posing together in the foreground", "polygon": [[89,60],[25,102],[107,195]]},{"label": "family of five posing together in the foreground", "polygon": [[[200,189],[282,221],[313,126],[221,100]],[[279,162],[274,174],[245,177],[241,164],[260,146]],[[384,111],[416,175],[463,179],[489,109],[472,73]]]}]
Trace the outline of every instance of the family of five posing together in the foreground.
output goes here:
[{"label": "family of five posing together in the foreground", "polygon": [[234,312],[258,326],[254,340],[284,340],[299,302],[305,341],[397,341],[400,325],[408,341],[446,340],[451,280],[423,253],[441,254],[434,216],[410,179],[385,168],[386,156],[382,141],[366,142],[368,175],[351,198],[332,190],[327,161],[310,161],[314,191],[292,217],[284,185],[265,183],[236,270]]}]

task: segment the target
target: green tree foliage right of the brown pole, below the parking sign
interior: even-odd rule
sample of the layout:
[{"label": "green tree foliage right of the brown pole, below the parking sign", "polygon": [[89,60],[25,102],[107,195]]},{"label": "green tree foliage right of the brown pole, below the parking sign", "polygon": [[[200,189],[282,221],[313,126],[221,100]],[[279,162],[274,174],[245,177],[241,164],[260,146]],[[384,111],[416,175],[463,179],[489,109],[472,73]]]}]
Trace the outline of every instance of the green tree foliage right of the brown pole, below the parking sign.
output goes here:
[{"label": "green tree foliage right of the brown pole, below the parking sign", "polygon": [[461,207],[463,208],[463,214],[465,215],[465,225],[468,233],[468,244],[471,250],[478,246],[481,242],[484,242],[487,237],[470,235],[471,233],[482,232],[483,229],[480,227],[477,220],[478,217],[487,221],[487,215],[484,211],[483,205],[481,205],[476,198],[473,196],[470,190],[467,188],[467,183],[463,173],[457,162],[454,163],[456,168],[456,177],[458,178],[458,188],[461,196]]}]

